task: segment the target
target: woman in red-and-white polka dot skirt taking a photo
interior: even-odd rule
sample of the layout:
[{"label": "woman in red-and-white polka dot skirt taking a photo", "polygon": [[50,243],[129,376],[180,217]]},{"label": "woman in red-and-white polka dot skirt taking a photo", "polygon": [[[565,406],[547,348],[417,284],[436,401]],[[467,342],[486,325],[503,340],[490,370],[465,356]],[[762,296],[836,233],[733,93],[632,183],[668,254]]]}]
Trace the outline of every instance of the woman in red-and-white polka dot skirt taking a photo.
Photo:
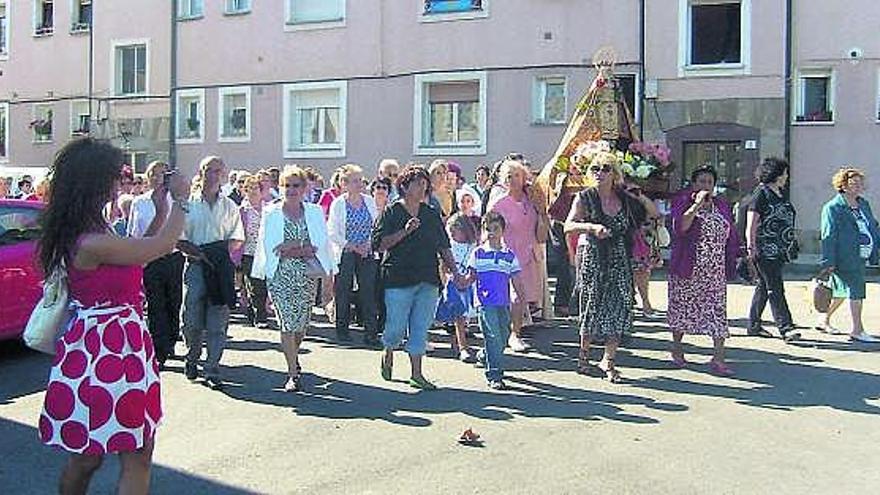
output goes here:
[{"label": "woman in red-and-white polka dot skirt taking a photo", "polygon": [[[39,419],[43,443],[70,452],[61,493],[86,493],[105,454],[120,456],[120,493],[147,493],[162,419],[159,369],[143,318],[143,265],[174,248],[189,181],[153,191],[143,239],[112,234],[102,214],[116,197],[122,152],[90,138],[66,145],[51,170],[40,239],[44,273],[65,270],[74,316],[55,345]],[[173,202],[169,204],[167,194]]]}]

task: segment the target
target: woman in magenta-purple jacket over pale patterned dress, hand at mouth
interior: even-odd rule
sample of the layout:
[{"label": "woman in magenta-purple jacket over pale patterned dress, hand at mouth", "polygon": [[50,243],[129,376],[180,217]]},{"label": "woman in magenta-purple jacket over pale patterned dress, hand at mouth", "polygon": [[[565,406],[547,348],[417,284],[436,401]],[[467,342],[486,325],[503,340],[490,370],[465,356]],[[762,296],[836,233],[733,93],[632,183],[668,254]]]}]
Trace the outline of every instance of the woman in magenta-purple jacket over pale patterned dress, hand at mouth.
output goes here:
[{"label": "woman in magenta-purple jacket over pale patterned dress, hand at mouth", "polygon": [[669,263],[669,328],[672,363],[684,368],[681,346],[688,335],[708,335],[715,344],[712,372],[732,375],[724,360],[727,327],[727,280],[736,272],[739,236],[730,205],[713,196],[718,173],[703,167],[691,174],[691,187],[672,200],[672,252]]}]

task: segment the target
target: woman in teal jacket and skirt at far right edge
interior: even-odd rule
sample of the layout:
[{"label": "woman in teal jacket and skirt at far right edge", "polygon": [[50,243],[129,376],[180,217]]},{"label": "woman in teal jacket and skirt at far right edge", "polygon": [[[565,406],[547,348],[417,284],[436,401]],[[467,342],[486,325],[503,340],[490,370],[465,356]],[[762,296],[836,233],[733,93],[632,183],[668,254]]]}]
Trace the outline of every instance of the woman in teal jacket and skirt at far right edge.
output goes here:
[{"label": "woman in teal jacket and skirt at far right edge", "polygon": [[822,207],[822,268],[831,274],[831,307],[819,325],[834,332],[831,315],[849,300],[852,317],[850,340],[880,342],[865,332],[862,304],[865,300],[865,264],[876,264],[880,229],[865,199],[865,173],[857,168],[840,169],[831,180],[837,194]]}]

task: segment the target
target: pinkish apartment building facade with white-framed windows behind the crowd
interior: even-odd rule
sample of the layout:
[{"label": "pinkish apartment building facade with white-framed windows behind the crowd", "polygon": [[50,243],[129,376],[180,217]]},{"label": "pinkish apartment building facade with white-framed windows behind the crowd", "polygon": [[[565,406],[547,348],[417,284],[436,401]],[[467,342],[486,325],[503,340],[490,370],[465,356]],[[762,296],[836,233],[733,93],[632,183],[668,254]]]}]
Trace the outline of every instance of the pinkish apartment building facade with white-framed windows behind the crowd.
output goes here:
[{"label": "pinkish apartment building facade with white-framed windows behind the crowd", "polygon": [[[470,171],[513,150],[541,164],[592,54],[612,46],[639,131],[673,150],[675,185],[712,164],[736,199],[762,158],[788,154],[809,245],[828,176],[870,169],[880,137],[871,0],[6,0],[0,14],[10,165],[48,163],[72,134],[90,36],[91,132],[186,170],[207,154],[325,172],[437,156]],[[47,100],[48,143],[31,125]]]}]

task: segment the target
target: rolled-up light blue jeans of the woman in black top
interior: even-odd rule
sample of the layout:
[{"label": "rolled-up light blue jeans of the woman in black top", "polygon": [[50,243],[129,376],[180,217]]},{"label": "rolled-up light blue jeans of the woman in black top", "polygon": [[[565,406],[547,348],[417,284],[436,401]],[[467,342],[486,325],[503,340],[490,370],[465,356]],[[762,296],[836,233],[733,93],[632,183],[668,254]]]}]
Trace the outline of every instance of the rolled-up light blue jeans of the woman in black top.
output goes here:
[{"label": "rolled-up light blue jeans of the woman in black top", "polygon": [[434,321],[440,289],[433,284],[420,283],[409,287],[385,289],[385,330],[382,345],[396,349],[406,339],[410,356],[423,356],[428,344],[428,328]]}]

